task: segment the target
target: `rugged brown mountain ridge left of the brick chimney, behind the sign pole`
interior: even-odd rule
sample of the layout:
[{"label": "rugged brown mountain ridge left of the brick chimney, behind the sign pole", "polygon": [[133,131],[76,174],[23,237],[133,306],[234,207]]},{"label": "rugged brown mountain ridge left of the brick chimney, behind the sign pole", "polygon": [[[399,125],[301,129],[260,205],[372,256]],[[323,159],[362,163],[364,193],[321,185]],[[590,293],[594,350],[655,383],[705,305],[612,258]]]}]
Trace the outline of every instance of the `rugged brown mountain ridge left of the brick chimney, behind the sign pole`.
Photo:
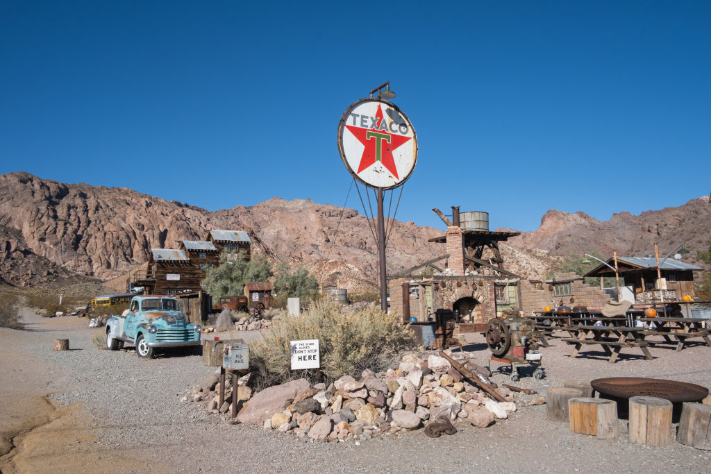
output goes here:
[{"label": "rugged brown mountain ridge left of the brick chimney, behind the sign pole", "polygon": [[[28,251],[58,268],[103,280],[146,262],[152,247],[175,248],[183,239],[204,239],[210,229],[240,229],[249,232],[253,254],[303,264],[321,283],[362,291],[378,281],[377,248],[365,217],[311,200],[272,198],[210,212],[128,188],[9,173],[0,176],[0,225],[16,230]],[[437,230],[413,222],[394,225],[387,244],[389,272],[441,250],[427,243]],[[16,274],[12,279],[27,282]]]}]

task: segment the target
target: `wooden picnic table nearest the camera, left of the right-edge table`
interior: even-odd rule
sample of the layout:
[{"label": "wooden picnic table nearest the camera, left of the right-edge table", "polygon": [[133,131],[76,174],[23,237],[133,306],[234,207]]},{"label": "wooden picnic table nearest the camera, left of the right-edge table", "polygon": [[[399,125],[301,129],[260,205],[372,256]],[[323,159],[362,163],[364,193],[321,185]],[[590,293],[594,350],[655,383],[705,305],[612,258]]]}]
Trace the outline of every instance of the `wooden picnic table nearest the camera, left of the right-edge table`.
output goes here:
[{"label": "wooden picnic table nearest the camera, left of the right-edge table", "polygon": [[[612,318],[606,318],[612,319]],[[647,360],[652,360],[652,355],[648,350],[650,343],[644,340],[644,328],[636,328],[627,325],[582,325],[569,328],[572,332],[571,338],[562,340],[575,348],[570,355],[577,357],[583,345],[600,345],[605,354],[608,355],[607,362],[614,364],[620,351],[624,348],[639,348]]]}]

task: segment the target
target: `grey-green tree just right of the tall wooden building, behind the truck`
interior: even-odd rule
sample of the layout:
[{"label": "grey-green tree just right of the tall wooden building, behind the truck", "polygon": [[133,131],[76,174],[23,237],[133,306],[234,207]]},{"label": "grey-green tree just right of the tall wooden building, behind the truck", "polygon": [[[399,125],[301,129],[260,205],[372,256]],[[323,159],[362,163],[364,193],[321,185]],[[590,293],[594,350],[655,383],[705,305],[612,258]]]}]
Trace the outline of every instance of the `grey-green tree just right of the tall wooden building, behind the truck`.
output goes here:
[{"label": "grey-green tree just right of the tall wooden building, behind the truck", "polygon": [[272,264],[267,259],[255,257],[247,261],[244,252],[225,250],[220,254],[220,266],[205,272],[202,285],[216,301],[221,296],[244,293],[245,281],[267,281],[272,275]]}]

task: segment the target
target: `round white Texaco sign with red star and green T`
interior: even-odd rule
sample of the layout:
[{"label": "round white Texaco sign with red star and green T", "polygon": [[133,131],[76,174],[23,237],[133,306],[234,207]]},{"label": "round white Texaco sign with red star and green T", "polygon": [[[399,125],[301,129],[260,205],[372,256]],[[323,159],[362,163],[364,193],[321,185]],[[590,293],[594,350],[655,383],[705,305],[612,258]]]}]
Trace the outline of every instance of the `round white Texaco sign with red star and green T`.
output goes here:
[{"label": "round white Texaco sign with red star and green T", "polygon": [[338,123],[338,151],[348,171],[371,188],[397,188],[417,163],[417,134],[395,104],[360,99]]}]

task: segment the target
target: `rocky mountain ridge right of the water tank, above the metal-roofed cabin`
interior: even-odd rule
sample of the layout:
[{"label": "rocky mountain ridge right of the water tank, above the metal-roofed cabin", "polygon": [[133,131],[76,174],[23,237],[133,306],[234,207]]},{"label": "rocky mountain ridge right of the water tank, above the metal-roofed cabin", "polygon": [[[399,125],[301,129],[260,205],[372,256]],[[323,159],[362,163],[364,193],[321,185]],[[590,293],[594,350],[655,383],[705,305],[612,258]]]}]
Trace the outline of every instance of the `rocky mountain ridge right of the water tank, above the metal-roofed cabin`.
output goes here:
[{"label": "rocky mountain ridge right of the water tank, above the metal-roofed cabin", "polygon": [[677,208],[648,210],[640,215],[619,212],[606,221],[584,212],[549,210],[537,230],[523,232],[509,243],[524,249],[544,249],[562,257],[590,252],[609,256],[613,250],[619,255],[639,257],[654,254],[655,243],[660,257],[664,257],[683,243],[692,251],[683,261],[698,264],[695,250],[707,249],[709,239],[711,203],[710,197],[704,196]]}]

